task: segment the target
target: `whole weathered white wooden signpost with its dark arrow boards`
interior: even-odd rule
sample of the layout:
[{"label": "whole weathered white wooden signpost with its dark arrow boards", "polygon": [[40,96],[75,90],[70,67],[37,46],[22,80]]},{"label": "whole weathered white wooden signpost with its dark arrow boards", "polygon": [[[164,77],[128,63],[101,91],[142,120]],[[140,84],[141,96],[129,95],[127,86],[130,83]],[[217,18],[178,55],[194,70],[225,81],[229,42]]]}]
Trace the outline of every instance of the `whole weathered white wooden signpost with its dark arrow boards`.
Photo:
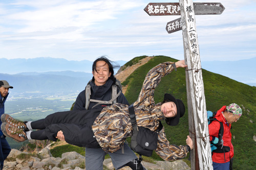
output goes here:
[{"label": "whole weathered white wooden signpost with its dark arrow boards", "polygon": [[181,15],[181,18],[167,23],[166,30],[172,33],[182,29],[184,58],[188,66],[186,90],[189,136],[194,141],[194,150],[190,153],[191,169],[213,169],[195,15],[221,14],[224,9],[220,3],[193,3],[192,0],[150,3],[144,9],[150,16]]}]

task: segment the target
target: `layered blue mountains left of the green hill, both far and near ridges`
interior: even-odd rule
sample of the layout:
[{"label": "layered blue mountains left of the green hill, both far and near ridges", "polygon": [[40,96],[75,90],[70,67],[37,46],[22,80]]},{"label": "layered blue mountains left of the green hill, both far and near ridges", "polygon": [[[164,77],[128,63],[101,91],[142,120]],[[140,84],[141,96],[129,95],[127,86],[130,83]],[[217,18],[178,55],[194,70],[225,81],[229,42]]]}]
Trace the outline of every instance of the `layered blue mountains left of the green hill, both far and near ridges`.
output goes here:
[{"label": "layered blue mountains left of the green hill, both far and near ridges", "polygon": [[[115,61],[120,66],[126,61]],[[62,58],[0,58],[0,80],[7,80],[12,93],[82,91],[92,79],[93,61],[69,61]],[[117,73],[118,69],[114,70]]]}]

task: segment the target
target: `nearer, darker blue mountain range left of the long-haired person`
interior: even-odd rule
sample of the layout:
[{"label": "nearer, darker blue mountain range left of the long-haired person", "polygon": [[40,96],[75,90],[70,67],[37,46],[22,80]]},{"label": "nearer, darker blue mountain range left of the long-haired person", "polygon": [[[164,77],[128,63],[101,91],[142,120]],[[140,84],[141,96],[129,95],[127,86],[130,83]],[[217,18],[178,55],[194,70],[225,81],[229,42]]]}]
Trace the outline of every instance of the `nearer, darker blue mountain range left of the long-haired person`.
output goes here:
[{"label": "nearer, darker blue mountain range left of the long-haired person", "polygon": [[1,79],[7,80],[11,86],[11,93],[24,92],[77,92],[82,91],[88,81],[92,79],[92,73],[84,72],[45,72],[45,73],[20,73],[0,74]]}]

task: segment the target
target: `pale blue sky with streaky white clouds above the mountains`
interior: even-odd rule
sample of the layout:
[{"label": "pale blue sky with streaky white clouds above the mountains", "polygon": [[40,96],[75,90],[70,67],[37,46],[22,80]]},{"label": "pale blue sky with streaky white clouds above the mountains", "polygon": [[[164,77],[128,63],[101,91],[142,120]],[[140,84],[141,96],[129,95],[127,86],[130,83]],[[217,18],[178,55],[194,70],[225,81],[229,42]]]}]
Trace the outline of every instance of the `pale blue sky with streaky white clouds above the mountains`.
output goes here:
[{"label": "pale blue sky with streaky white clouds above the mountains", "polygon": [[[0,58],[53,57],[129,61],[141,55],[184,59],[182,31],[166,24],[180,16],[150,16],[145,0],[0,1]],[[256,57],[256,0],[218,2],[221,15],[196,15],[201,61]]]}]

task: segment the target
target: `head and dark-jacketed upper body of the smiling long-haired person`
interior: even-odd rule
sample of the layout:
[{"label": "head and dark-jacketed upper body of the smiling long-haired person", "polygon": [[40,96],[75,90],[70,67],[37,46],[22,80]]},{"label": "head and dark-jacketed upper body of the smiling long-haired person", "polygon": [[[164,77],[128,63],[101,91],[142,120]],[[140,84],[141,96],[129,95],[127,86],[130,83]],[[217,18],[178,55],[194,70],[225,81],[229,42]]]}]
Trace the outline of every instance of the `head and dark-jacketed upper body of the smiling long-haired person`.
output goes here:
[{"label": "head and dark-jacketed upper body of the smiling long-haired person", "polygon": [[[86,90],[83,90],[79,93],[79,95],[76,98],[73,110],[91,110],[91,109],[103,109],[106,106],[109,106],[113,103],[122,103],[122,104],[128,104],[129,102],[125,98],[121,91],[120,87],[116,86],[116,81],[118,81],[114,76],[114,68],[119,67],[118,65],[114,65],[113,61],[110,61],[108,58],[101,56],[97,58],[93,62],[92,67],[92,74],[93,78],[89,81],[90,85],[90,94],[88,95],[90,97],[90,102],[88,108],[86,107],[86,103],[89,99],[86,98]],[[111,100],[112,96],[112,86],[116,86],[117,88],[117,98],[116,102],[113,103],[102,103],[98,104],[97,100],[99,101],[109,101]],[[98,104],[98,105],[97,105]],[[95,107],[96,105],[96,107]],[[94,169],[95,170],[95,169]]]}]

